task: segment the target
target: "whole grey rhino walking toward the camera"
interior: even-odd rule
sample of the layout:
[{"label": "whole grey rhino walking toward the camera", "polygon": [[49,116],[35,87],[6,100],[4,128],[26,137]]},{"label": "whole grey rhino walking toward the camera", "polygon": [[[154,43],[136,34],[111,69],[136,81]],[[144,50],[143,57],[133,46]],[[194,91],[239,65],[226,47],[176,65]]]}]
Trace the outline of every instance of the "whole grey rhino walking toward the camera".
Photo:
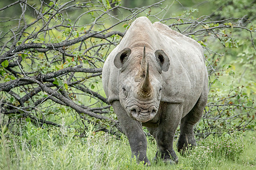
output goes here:
[{"label": "whole grey rhino walking toward the camera", "polygon": [[156,156],[166,162],[178,162],[173,141],[179,124],[177,150],[196,145],[193,125],[208,94],[203,49],[196,41],[138,18],[106,59],[102,82],[138,161],[150,165],[142,126],[157,141]]}]

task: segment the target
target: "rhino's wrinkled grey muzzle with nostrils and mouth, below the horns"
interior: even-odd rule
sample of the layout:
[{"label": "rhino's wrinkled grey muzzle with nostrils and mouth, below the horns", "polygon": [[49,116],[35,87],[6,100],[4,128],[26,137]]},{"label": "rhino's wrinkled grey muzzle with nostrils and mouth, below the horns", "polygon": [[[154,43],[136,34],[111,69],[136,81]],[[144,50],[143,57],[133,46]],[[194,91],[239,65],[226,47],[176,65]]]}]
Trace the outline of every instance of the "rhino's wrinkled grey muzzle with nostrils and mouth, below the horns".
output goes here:
[{"label": "rhino's wrinkled grey muzzle with nostrils and mouth, below the horns", "polygon": [[138,107],[137,105],[134,105],[129,109],[128,113],[130,117],[143,123],[152,120],[157,112],[158,109],[154,105],[148,109],[143,109],[141,107]]}]

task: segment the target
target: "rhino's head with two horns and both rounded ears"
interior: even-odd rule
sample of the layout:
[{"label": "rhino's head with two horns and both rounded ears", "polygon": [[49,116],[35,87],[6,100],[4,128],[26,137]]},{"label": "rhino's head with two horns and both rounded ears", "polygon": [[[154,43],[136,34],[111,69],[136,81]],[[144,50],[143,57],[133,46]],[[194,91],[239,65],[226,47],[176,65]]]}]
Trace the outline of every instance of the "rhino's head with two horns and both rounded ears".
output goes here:
[{"label": "rhino's head with two horns and both rounded ears", "polygon": [[[143,47],[142,47],[143,48]],[[119,100],[127,114],[139,122],[155,117],[162,94],[162,71],[167,71],[170,60],[163,50],[125,48],[115,56],[119,74]],[[148,60],[148,61],[147,61]]]}]

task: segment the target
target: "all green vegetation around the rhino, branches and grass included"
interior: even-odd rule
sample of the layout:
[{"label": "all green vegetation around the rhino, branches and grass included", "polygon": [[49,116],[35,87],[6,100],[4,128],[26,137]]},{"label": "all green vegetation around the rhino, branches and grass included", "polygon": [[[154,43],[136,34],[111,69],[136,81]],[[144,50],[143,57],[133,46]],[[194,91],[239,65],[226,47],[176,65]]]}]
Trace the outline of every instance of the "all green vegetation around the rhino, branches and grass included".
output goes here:
[{"label": "all green vegetation around the rhino, branches and grass included", "polygon": [[[106,57],[138,16],[205,50],[210,92],[195,128],[199,145],[175,168],[255,168],[255,7],[249,0],[1,1],[0,168],[145,168],[130,162],[101,84]],[[148,143],[153,159],[155,140]]]}]

